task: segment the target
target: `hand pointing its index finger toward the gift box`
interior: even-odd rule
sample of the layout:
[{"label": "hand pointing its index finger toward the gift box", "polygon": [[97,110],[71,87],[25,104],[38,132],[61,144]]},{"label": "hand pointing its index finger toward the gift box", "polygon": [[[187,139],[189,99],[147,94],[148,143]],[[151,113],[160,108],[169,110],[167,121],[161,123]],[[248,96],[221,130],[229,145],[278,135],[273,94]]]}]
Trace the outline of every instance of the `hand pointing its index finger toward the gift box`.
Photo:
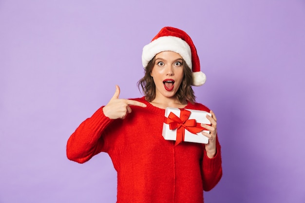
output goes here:
[{"label": "hand pointing its index finger toward the gift box", "polygon": [[132,112],[130,105],[138,107],[146,107],[146,104],[130,99],[119,99],[120,87],[115,86],[116,90],[108,104],[103,107],[104,115],[110,119],[124,119],[128,113]]}]

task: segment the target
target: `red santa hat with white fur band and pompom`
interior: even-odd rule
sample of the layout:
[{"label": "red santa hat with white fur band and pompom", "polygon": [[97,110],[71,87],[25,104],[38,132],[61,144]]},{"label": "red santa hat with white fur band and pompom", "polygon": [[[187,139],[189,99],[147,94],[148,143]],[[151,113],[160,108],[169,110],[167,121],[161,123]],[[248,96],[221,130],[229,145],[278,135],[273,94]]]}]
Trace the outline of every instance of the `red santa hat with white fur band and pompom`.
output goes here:
[{"label": "red santa hat with white fur band and pompom", "polygon": [[145,68],[155,55],[164,51],[172,51],[181,55],[192,70],[193,86],[201,86],[206,82],[206,75],[200,71],[196,47],[186,32],[173,27],[162,28],[153,37],[151,43],[143,47],[143,67]]}]

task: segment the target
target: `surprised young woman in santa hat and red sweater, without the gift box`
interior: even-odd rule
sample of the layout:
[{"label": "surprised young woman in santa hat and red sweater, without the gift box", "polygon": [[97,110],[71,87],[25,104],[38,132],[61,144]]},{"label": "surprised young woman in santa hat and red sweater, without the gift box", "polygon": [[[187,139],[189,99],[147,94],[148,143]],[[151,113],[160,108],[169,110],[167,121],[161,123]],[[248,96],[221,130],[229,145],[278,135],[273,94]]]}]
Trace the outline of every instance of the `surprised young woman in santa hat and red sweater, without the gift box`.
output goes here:
[{"label": "surprised young woman in santa hat and red sweater, without the gift box", "polygon": [[[107,152],[117,171],[117,203],[203,203],[203,191],[221,179],[221,151],[216,117],[196,103],[191,85],[200,86],[205,74],[191,38],[182,30],[164,27],[143,48],[144,77],[138,82],[144,96],[119,99],[83,121],[67,144],[70,160],[84,163]],[[165,140],[167,107],[208,111],[208,144]]]}]

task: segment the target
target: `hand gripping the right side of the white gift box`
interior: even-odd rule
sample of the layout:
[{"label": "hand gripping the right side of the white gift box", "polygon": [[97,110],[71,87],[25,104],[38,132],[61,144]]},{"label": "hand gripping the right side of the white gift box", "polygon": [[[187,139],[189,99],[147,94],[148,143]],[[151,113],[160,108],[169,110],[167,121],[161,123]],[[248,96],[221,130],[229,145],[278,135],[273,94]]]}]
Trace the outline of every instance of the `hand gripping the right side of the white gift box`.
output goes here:
[{"label": "hand gripping the right side of the white gift box", "polygon": [[213,158],[216,154],[216,135],[217,135],[217,119],[213,111],[210,111],[212,116],[207,115],[211,125],[201,124],[201,126],[207,130],[210,130],[210,134],[202,131],[202,134],[209,138],[209,143],[205,144],[207,156]]}]

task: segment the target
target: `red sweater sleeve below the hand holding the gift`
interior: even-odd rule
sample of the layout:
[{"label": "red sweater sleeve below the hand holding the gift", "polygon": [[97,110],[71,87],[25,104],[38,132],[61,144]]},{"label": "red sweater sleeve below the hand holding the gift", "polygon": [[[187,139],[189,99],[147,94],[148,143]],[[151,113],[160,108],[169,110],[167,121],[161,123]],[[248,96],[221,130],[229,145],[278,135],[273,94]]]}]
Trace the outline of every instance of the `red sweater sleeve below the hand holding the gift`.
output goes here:
[{"label": "red sweater sleeve below the hand holding the gift", "polygon": [[216,155],[213,158],[207,156],[207,152],[204,150],[204,157],[202,163],[202,181],[203,189],[210,191],[222,177],[221,166],[221,147],[216,137]]}]

